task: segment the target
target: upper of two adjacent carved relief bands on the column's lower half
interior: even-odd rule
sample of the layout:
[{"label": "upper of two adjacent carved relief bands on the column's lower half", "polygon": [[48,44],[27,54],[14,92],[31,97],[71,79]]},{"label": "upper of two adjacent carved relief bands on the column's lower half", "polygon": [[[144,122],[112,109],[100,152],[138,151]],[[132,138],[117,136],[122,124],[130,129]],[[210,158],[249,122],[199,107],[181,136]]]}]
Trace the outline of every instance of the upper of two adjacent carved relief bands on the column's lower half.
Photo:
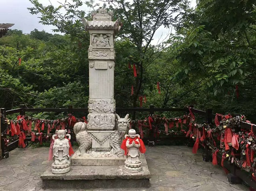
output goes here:
[{"label": "upper of two adjacent carved relief bands on the column's lower half", "polygon": [[97,113],[115,112],[114,99],[89,99],[88,111]]}]

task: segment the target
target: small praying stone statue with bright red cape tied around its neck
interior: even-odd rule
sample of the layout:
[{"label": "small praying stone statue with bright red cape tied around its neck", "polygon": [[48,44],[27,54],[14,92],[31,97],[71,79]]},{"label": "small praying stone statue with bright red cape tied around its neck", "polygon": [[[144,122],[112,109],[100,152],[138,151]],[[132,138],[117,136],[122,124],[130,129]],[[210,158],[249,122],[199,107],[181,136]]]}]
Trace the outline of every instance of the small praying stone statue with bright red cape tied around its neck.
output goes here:
[{"label": "small praying stone statue with bright red cape tied around its neck", "polygon": [[127,172],[140,172],[142,169],[140,156],[141,153],[146,152],[145,145],[134,129],[130,129],[124,137],[121,149],[125,151],[124,154],[126,155],[125,170]]}]

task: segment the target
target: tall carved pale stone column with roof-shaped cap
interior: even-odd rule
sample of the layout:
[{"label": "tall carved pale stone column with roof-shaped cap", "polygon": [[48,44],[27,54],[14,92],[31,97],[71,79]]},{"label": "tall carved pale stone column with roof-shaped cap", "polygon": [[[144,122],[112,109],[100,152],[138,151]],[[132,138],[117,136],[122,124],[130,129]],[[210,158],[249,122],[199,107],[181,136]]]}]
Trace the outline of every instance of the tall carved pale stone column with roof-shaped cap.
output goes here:
[{"label": "tall carved pale stone column with roof-shaped cap", "polygon": [[93,21],[82,21],[90,34],[88,133],[92,137],[92,151],[109,152],[115,128],[114,37],[121,22],[112,21],[112,13],[105,9],[94,12]]}]

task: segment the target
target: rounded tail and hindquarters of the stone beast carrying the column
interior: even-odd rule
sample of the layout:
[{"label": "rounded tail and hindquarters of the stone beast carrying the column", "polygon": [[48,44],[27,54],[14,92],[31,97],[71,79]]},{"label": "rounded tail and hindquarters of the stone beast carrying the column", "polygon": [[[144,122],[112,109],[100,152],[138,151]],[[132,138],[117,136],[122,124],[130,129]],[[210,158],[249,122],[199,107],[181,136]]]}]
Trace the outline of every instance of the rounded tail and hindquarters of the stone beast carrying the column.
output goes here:
[{"label": "rounded tail and hindquarters of the stone beast carrying the column", "polygon": [[83,156],[89,153],[89,149],[92,146],[92,138],[87,133],[87,123],[77,122],[74,124],[75,139],[79,145],[75,156]]}]

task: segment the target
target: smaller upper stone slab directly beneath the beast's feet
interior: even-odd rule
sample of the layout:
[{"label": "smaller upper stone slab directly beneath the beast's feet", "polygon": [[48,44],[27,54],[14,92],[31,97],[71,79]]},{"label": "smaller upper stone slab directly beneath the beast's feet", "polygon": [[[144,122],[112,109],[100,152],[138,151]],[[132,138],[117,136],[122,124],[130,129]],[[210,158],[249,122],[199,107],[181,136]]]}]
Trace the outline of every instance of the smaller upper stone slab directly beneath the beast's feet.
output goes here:
[{"label": "smaller upper stone slab directly beneath the beast's feet", "polygon": [[114,158],[94,158],[91,156],[85,157],[75,157],[74,155],[71,158],[71,166],[121,166],[124,165],[125,157]]}]

